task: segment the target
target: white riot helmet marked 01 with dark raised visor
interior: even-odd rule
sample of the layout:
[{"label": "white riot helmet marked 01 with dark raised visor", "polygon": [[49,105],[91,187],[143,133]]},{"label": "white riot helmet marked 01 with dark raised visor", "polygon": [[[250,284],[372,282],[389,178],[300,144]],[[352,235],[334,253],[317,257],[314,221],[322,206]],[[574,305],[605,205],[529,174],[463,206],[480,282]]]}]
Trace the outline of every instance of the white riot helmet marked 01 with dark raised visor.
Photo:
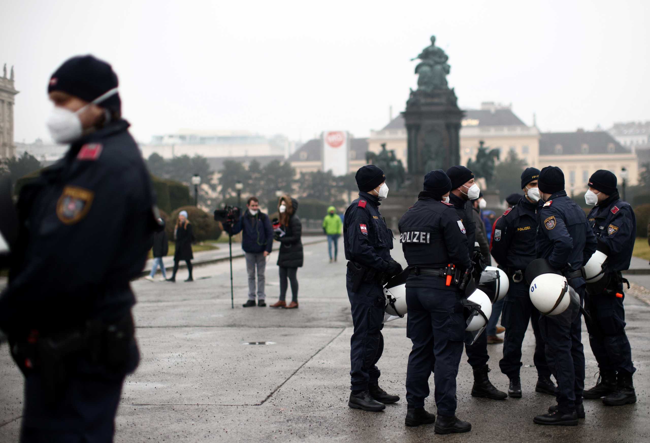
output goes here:
[{"label": "white riot helmet marked 01 with dark raised visor", "polygon": [[528,294],[530,301],[541,315],[562,314],[575,305],[577,312],[580,308],[580,296],[569,286],[566,277],[552,268],[546,259],[530,262],[526,268],[526,281],[530,284]]}]

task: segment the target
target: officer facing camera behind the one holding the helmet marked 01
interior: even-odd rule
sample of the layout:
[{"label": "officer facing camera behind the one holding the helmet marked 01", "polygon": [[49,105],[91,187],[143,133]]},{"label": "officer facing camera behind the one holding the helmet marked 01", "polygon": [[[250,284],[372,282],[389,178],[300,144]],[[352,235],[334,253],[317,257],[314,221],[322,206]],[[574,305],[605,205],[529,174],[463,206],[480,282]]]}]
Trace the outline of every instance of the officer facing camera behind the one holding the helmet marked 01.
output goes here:
[{"label": "officer facing camera behind the one holding the helmet marked 01", "polygon": [[501,372],[510,379],[508,396],[521,398],[521,344],[532,322],[535,335],[533,361],[537,369],[536,392],[555,394],[551,381],[551,370],[546,364],[544,340],[539,334],[539,311],[530,302],[528,284],[524,279],[526,267],[535,255],[535,236],[537,233],[537,214],[539,189],[537,187],[539,170],[526,168],[521,174],[521,188],[524,196],[506,210],[495,223],[491,255],[499,263],[499,268],[508,274],[510,287],[504,299],[501,324],[506,328],[503,344],[503,358],[499,361]]}]

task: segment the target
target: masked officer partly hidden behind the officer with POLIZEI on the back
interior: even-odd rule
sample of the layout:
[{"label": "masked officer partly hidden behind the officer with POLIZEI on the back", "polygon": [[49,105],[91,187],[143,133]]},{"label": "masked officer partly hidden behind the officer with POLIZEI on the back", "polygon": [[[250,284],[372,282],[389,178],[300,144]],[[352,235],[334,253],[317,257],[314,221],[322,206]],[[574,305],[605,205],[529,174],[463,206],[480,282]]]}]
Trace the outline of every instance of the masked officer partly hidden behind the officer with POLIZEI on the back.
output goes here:
[{"label": "masked officer partly hidden behind the officer with POLIZEI on the back", "polygon": [[[449,203],[454,205],[456,214],[467,231],[467,247],[469,257],[476,264],[474,266],[474,277],[476,277],[476,272],[480,273],[482,271],[478,263],[482,259],[479,258],[480,248],[474,246],[474,242],[476,241],[476,226],[474,225],[473,209],[469,200],[478,198],[480,189],[474,183],[474,174],[465,168],[465,166],[452,166],[447,170],[447,176],[451,181]],[[495,388],[489,381],[487,375],[490,371],[487,366],[487,361],[489,361],[489,355],[487,355],[487,336],[481,334],[473,345],[466,344],[465,352],[467,353],[467,362],[472,366],[474,374],[472,396],[495,400],[508,398],[508,394]]]}]

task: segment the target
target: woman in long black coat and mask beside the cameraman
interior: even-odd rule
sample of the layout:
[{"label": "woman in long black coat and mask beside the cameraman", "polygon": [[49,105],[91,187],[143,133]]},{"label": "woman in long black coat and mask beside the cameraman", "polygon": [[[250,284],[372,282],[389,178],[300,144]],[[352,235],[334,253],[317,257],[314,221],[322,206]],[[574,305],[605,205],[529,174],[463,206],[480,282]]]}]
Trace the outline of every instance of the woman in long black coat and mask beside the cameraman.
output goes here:
[{"label": "woman in long black coat and mask beside the cameraman", "polygon": [[[298,200],[282,196],[278,201],[279,223],[275,239],[280,242],[278,267],[280,275],[280,299],[270,307],[296,309],[298,307],[298,279],[296,273],[302,266],[302,224],[296,216]],[[287,305],[287,279],[291,283],[291,303]]]}]

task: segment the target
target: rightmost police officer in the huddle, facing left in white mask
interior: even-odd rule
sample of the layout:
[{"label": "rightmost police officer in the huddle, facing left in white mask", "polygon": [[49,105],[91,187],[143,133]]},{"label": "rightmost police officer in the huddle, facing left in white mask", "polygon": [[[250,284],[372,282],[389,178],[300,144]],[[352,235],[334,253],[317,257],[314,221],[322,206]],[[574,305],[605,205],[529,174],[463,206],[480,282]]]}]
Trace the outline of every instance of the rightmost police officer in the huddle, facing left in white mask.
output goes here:
[{"label": "rightmost police officer in the huddle, facing left in white mask", "polygon": [[582,393],[584,398],[603,398],[610,406],[636,402],[630,342],[625,335],[623,279],[621,271],[630,266],[636,218],[630,204],[622,201],[616,188],[616,175],[595,171],[585,194],[588,205],[595,205],[588,220],[598,240],[598,250],[607,255],[604,275],[587,284],[584,299],[593,324],[589,326],[591,350],[598,362],[600,383]]}]

